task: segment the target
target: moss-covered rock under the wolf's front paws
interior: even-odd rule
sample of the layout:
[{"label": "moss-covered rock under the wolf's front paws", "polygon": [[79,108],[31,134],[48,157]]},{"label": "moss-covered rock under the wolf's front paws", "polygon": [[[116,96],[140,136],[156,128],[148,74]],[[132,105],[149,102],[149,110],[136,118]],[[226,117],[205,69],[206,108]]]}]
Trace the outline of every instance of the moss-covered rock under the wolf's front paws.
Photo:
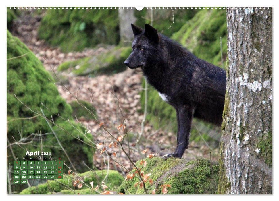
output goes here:
[{"label": "moss-covered rock under the wolf's front paws", "polygon": [[[161,185],[170,184],[167,194],[216,194],[219,176],[219,164],[207,159],[186,161],[184,159],[169,158],[167,160],[153,157],[145,159],[146,167],[136,162],[137,167],[144,171],[144,174],[151,173],[148,179],[153,183],[145,182],[147,193],[151,194],[156,189],[156,194],[162,194]],[[132,171],[134,172],[134,171]],[[118,192],[124,194],[145,194],[143,188],[136,185],[139,181],[136,178],[123,181]]]}]

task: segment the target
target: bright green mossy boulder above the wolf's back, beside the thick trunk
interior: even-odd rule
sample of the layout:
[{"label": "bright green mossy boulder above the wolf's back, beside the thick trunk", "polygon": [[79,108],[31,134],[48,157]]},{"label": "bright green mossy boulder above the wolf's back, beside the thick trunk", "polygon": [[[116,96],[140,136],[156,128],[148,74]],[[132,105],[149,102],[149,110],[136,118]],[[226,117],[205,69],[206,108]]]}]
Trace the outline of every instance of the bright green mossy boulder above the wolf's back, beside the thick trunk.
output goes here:
[{"label": "bright green mossy boulder above the wolf's back, beside the thick trunk", "polygon": [[222,37],[222,56],[225,61],[226,10],[201,10],[172,35],[172,39],[180,42],[195,56],[222,67],[220,37]]}]

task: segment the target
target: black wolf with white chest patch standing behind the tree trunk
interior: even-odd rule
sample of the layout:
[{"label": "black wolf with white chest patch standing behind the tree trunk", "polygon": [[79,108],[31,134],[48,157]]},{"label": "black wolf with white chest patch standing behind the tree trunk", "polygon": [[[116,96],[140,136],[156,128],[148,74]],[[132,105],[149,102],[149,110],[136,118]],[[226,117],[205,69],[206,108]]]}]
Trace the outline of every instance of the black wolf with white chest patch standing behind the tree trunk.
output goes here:
[{"label": "black wolf with white chest patch standing behind the tree trunk", "polygon": [[[170,156],[181,158],[189,145],[192,118],[221,125],[226,93],[226,72],[203,61],[170,38],[132,25],[132,53],[124,64],[141,68],[161,98],[176,110],[177,146]],[[210,50],[208,50],[210,51]]]}]

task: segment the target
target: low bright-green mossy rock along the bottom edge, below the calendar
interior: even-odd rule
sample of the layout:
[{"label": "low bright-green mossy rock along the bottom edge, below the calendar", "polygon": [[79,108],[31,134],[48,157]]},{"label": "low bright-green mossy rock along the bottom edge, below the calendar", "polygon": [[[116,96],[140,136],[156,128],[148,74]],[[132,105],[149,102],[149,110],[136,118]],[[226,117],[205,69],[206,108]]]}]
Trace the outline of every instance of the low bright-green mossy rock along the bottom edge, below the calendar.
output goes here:
[{"label": "low bright-green mossy rock along the bottom edge, below the calendar", "polygon": [[[64,170],[64,172],[66,172]],[[90,182],[93,181],[94,188],[99,185],[107,175],[107,170],[88,171],[77,175],[63,175],[63,179],[47,180],[43,184],[32,186],[22,190],[19,194],[99,194],[102,192],[100,187],[98,192],[91,188]],[[80,180],[82,188],[74,187],[74,181]],[[116,191],[124,178],[115,170],[109,170],[105,185],[112,191]]]}]

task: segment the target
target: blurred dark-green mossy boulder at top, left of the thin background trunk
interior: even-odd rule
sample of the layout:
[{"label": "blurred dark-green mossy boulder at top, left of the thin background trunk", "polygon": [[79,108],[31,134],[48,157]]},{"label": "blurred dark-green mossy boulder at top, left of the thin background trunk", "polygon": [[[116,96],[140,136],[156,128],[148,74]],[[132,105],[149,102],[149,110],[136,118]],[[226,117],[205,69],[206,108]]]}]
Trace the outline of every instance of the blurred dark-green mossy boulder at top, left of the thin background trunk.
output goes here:
[{"label": "blurred dark-green mossy boulder at top, left of the thin background trunk", "polygon": [[52,9],[41,20],[38,36],[62,51],[80,51],[99,43],[118,44],[118,11]]}]

